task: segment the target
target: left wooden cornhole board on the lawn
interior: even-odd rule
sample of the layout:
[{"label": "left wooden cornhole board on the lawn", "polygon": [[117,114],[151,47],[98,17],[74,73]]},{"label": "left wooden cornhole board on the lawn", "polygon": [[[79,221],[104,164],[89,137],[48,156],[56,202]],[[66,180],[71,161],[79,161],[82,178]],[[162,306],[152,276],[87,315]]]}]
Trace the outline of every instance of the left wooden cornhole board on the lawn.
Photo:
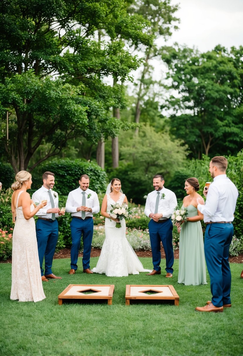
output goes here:
[{"label": "left wooden cornhole board on the lawn", "polygon": [[112,305],[114,284],[69,284],[58,295],[58,304],[62,305],[63,299],[107,299]]}]

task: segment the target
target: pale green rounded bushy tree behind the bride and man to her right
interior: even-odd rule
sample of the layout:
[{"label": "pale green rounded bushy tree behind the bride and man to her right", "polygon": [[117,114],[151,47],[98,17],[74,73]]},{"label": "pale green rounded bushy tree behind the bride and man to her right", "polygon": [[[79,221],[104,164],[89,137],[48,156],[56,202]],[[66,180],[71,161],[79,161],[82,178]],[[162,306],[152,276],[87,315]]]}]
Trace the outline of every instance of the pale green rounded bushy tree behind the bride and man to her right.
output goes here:
[{"label": "pale green rounded bushy tree behind the bride and man to her right", "polygon": [[169,178],[183,167],[186,149],[181,146],[181,141],[172,141],[166,132],[156,132],[148,125],[141,126],[138,136],[130,135],[128,132],[123,137],[120,148],[123,161],[119,168],[109,172],[109,178],[119,178],[128,200],[143,204],[144,196],[153,189],[155,174],[163,175],[165,187],[169,188]]}]

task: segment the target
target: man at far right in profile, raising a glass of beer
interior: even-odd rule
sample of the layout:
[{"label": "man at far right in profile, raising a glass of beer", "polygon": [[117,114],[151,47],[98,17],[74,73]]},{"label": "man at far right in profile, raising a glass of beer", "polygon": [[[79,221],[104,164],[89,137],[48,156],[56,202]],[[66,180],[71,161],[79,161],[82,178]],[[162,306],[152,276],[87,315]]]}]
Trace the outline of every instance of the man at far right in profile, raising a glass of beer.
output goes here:
[{"label": "man at far right in profile, raising a glass of beer", "polygon": [[236,186],[226,176],[227,159],[213,157],[209,171],[213,182],[203,190],[206,204],[197,199],[197,209],[204,215],[206,223],[204,250],[210,275],[212,300],[205,307],[197,307],[198,312],[223,312],[231,307],[231,271],[229,267],[229,246],[234,228],[234,211],[238,198]]}]

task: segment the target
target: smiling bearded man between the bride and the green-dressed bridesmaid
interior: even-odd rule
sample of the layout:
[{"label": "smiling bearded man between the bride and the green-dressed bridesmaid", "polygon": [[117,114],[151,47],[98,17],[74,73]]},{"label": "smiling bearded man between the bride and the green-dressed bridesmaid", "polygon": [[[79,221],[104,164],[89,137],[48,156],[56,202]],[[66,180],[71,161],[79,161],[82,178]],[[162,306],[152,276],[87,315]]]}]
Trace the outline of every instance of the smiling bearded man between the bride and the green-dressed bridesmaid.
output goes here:
[{"label": "smiling bearded man between the bride and the green-dressed bridesmaid", "polygon": [[172,277],[174,264],[174,251],[172,246],[173,224],[171,215],[177,205],[176,195],[164,187],[164,178],[156,174],[153,178],[154,191],[148,194],[146,199],[145,214],[151,218],[149,222],[149,236],[152,249],[154,269],[148,276],[161,274],[160,242],[162,241],[166,258],[166,276]]}]

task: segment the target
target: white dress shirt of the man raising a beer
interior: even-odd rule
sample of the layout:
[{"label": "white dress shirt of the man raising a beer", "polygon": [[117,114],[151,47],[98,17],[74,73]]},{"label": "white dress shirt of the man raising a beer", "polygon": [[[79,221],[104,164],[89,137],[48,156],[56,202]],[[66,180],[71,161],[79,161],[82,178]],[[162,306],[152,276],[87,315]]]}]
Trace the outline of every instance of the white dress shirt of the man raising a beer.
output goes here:
[{"label": "white dress shirt of the man raising a beer", "polygon": [[197,205],[197,209],[204,215],[204,222],[233,221],[238,195],[236,186],[226,174],[214,177],[208,187],[205,205]]}]

